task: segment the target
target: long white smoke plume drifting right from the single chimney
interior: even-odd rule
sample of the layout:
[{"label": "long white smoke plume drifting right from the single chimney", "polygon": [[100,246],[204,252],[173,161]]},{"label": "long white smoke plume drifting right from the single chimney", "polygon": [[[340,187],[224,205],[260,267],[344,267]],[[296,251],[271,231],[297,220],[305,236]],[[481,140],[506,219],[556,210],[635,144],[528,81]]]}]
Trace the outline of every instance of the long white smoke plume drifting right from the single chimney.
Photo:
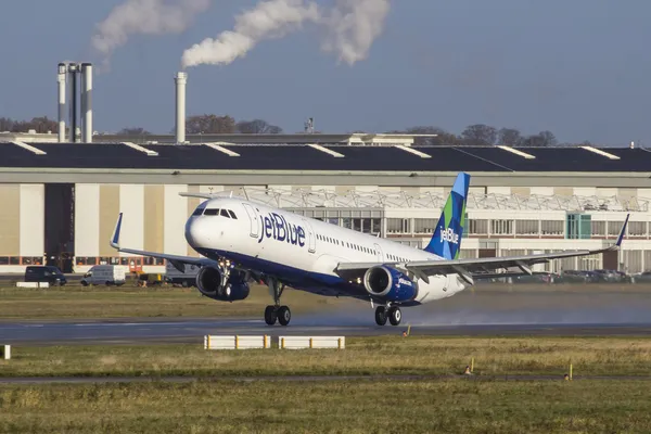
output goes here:
[{"label": "long white smoke plume drifting right from the single chimney", "polygon": [[332,10],[321,10],[305,0],[266,0],[235,17],[232,31],[205,39],[183,52],[183,68],[201,64],[227,65],[244,56],[258,42],[283,37],[308,22],[324,26],[323,50],[336,52],[354,64],[366,59],[382,33],[390,0],[337,0]]}]

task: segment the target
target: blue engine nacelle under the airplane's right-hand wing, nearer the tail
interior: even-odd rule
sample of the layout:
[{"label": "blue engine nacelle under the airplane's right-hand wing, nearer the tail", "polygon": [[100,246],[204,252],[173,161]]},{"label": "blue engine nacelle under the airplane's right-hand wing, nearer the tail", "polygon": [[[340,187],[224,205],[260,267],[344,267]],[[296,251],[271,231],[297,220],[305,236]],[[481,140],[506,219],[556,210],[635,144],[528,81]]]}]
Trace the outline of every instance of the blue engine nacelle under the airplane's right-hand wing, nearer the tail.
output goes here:
[{"label": "blue engine nacelle under the airplane's right-hand wing, nearer the tail", "polygon": [[375,298],[387,302],[411,302],[418,295],[418,283],[395,268],[375,266],[363,275],[363,286]]}]

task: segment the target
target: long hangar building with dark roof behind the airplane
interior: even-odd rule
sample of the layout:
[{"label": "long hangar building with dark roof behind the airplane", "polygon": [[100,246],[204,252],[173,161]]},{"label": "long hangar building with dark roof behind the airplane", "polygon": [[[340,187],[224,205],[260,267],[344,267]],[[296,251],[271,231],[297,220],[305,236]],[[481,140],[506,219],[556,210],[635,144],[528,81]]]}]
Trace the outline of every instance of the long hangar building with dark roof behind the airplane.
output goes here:
[{"label": "long hangar building with dark roof behind the airplane", "polygon": [[76,272],[100,263],[162,267],[111,248],[120,212],[125,245],[192,255],[183,226],[200,200],[180,192],[232,191],[421,246],[461,170],[473,176],[464,257],[598,248],[630,213],[621,253],[547,269],[651,269],[646,149],[412,148],[391,136],[374,145],[347,144],[353,136],[315,144],[324,143],[319,136],[304,144],[285,136],[255,144],[0,143],[0,272],[46,261]]}]

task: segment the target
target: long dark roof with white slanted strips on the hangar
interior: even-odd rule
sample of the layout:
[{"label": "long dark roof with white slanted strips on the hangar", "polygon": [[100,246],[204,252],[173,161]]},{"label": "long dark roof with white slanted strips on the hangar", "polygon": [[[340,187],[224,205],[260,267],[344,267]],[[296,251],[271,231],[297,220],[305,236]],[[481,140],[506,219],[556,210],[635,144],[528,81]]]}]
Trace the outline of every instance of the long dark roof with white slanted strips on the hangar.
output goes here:
[{"label": "long dark roof with white slanted strips on the hangar", "polygon": [[647,149],[0,142],[0,168],[648,173]]}]

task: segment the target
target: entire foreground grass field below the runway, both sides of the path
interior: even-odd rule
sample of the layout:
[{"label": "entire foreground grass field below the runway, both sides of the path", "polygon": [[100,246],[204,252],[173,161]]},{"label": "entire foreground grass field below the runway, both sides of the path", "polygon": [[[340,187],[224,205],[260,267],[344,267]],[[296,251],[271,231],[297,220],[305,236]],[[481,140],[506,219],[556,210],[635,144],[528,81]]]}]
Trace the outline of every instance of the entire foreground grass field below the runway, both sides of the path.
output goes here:
[{"label": "entire foreground grass field below the runway, both sides of the path", "polygon": [[[623,433],[651,426],[651,339],[357,337],[343,350],[196,345],[13,348],[0,375],[197,375],[189,383],[0,385],[0,433]],[[461,375],[470,358],[475,374]],[[567,363],[576,381],[563,381]],[[255,375],[456,374],[255,381]],[[503,381],[550,374],[558,380]],[[511,376],[513,378],[513,376]]]}]

